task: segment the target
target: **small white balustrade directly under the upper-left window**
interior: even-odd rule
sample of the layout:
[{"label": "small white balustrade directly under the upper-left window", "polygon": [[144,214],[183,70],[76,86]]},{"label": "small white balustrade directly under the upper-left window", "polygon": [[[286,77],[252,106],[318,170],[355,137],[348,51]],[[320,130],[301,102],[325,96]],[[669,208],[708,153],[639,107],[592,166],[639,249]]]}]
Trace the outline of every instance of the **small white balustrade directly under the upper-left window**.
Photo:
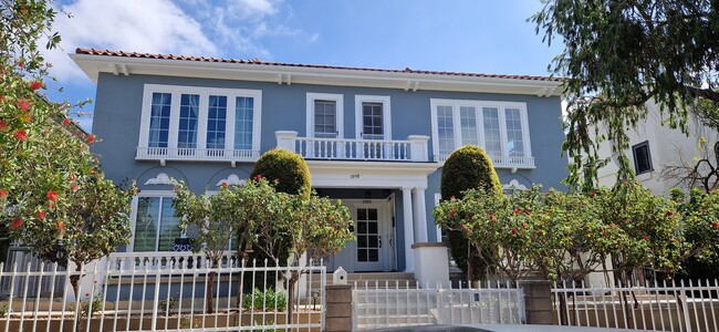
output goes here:
[{"label": "small white balustrade directly under the upper-left window", "polygon": [[138,160],[254,162],[259,151],[222,148],[137,147]]}]

